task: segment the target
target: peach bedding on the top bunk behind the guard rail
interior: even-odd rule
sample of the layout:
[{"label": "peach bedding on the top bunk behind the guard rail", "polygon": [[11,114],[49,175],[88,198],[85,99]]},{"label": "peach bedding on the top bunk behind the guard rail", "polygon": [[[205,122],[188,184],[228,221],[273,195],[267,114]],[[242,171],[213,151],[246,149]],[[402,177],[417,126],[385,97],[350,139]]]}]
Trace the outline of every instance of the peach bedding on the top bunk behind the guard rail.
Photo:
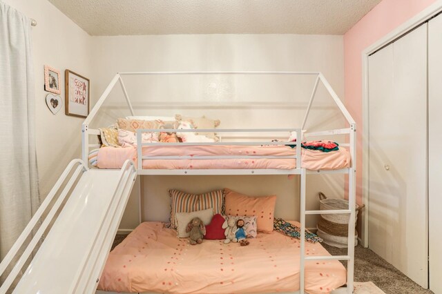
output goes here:
[{"label": "peach bedding on the top bunk behind the guard rail", "polygon": [[[182,155],[296,155],[296,148],[289,146],[144,146],[145,156]],[[126,159],[136,162],[135,147],[99,148],[97,161],[99,168],[121,168]],[[320,150],[302,148],[302,167],[309,170],[336,170],[348,168],[350,155],[347,149],[325,153]],[[144,159],[143,168],[164,169],[204,169],[204,168],[277,168],[296,167],[296,159]]]}]

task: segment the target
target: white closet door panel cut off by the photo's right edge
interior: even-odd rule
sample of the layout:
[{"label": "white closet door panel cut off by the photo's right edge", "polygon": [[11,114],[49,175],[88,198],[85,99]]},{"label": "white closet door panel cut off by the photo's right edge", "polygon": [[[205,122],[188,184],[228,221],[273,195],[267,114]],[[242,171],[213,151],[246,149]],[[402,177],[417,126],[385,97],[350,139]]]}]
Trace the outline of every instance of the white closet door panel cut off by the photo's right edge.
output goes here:
[{"label": "white closet door panel cut off by the photo's right edge", "polygon": [[428,22],[428,203],[430,289],[442,293],[442,15]]}]

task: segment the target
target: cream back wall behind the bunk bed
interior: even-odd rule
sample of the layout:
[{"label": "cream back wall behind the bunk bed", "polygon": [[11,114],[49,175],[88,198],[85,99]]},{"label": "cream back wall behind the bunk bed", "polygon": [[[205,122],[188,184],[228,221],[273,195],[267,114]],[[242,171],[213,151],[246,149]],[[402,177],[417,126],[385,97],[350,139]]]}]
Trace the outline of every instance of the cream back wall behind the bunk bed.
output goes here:
[{"label": "cream back wall behind the bunk bed", "polygon": [[[344,92],[343,37],[320,35],[155,35],[93,37],[93,76],[97,99],[116,72],[124,71],[218,71],[287,70],[321,71],[340,97]],[[128,95],[137,115],[206,115],[221,119],[220,128],[300,127],[314,77],[124,77]],[[318,106],[307,128],[342,127],[343,119],[323,88],[318,90]],[[253,101],[289,103],[289,107],[260,108]],[[151,102],[162,104],[153,107]],[[206,104],[198,108],[180,106],[189,102]],[[222,106],[251,103],[249,109]],[[220,104],[213,108],[209,105]],[[116,87],[106,108],[93,126],[111,124],[115,117],[128,115],[122,91]],[[307,206],[317,208],[316,194],[343,197],[343,176],[309,176]],[[145,176],[143,218],[167,220],[168,188],[201,193],[229,187],[250,195],[278,195],[276,216],[298,219],[297,179],[286,176]],[[121,224],[137,223],[137,201],[128,204]],[[307,222],[314,226],[314,221]]]}]

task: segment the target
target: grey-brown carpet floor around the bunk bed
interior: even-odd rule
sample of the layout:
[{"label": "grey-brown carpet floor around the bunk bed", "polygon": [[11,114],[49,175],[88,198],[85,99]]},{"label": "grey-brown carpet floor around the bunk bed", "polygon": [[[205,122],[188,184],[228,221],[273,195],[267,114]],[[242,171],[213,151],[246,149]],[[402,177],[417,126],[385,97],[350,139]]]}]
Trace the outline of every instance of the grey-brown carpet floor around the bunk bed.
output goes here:
[{"label": "grey-brown carpet floor around the bunk bed", "polygon": [[[126,235],[115,236],[112,249],[121,243]],[[347,249],[335,248],[323,244],[332,255],[346,255]],[[354,280],[357,282],[373,282],[385,294],[432,294],[422,288],[394,266],[376,255],[373,251],[358,245],[354,251]],[[343,261],[344,266],[347,262]]]}]

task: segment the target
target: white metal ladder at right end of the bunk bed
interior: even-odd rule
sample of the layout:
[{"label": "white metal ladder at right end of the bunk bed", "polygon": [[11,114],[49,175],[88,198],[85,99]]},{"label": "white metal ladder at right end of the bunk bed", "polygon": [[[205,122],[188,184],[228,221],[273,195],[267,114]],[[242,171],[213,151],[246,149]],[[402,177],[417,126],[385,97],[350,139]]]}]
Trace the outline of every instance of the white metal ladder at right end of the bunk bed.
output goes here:
[{"label": "white metal ladder at right end of the bunk bed", "polygon": [[[306,260],[347,260],[347,293],[353,293],[354,282],[354,222],[356,218],[356,170],[349,168],[349,209],[343,210],[305,210],[305,187],[306,170],[301,168],[300,172],[300,284],[299,293],[304,294],[305,289],[305,261]],[[345,214],[349,215],[347,255],[332,256],[305,256],[305,216],[321,214]]]}]

